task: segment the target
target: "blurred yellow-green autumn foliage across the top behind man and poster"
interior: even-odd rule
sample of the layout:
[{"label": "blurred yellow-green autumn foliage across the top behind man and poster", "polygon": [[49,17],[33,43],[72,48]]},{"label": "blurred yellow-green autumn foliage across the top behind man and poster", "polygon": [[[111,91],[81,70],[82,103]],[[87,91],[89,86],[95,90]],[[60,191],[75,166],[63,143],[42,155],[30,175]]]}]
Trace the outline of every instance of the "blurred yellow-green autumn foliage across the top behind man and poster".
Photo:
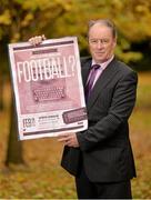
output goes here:
[{"label": "blurred yellow-green autumn foliage across the top behind man and poster", "polygon": [[117,24],[120,59],[127,63],[143,59],[143,52],[133,51],[132,44],[151,37],[151,1],[144,0],[1,0],[0,43],[42,33],[48,38],[78,36],[81,52],[88,53],[87,23],[99,18]]}]

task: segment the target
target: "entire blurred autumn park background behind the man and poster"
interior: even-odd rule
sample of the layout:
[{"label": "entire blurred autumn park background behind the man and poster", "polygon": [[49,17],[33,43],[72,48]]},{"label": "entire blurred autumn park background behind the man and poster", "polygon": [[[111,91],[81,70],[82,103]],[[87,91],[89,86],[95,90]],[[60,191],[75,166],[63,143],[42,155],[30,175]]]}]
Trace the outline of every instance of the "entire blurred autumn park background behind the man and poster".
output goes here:
[{"label": "entire blurred autumn park background behind the man and poster", "polygon": [[138,71],[138,101],[130,118],[138,178],[133,198],[151,198],[151,0],[0,0],[0,198],[73,199],[73,178],[60,167],[52,138],[18,141],[8,43],[32,36],[77,36],[88,56],[87,24],[109,18],[118,28],[115,54]]}]

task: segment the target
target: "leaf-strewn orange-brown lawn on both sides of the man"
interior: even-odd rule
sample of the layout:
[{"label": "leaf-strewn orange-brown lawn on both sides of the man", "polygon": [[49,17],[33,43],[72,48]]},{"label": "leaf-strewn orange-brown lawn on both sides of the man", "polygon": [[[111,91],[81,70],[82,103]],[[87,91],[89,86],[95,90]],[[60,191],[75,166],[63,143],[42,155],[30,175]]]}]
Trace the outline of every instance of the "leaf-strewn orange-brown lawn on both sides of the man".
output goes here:
[{"label": "leaf-strewn orange-brown lawn on both sides of the man", "polygon": [[[6,111],[0,112],[0,198],[74,199],[74,180],[60,167],[62,146],[54,139],[23,141],[24,166],[4,167],[9,134],[10,86],[4,90]],[[151,73],[139,74],[138,101],[130,118],[138,178],[133,198],[151,198]]]}]

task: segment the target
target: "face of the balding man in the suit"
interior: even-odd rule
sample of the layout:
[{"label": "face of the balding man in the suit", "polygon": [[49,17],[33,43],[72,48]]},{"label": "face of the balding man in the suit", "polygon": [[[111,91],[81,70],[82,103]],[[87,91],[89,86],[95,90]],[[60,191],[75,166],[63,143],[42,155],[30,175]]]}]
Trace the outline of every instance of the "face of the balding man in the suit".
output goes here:
[{"label": "face of the balding man in the suit", "polygon": [[89,49],[97,63],[105,62],[113,56],[117,44],[110,28],[103,24],[94,24],[89,31]]}]

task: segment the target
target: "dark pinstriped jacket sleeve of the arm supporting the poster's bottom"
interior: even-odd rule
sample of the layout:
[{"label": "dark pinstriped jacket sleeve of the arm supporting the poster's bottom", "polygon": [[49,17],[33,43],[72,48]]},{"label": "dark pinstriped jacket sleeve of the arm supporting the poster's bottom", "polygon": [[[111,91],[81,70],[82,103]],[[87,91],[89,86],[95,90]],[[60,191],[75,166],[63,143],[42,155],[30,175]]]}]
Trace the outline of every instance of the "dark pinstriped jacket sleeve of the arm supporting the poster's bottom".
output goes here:
[{"label": "dark pinstriped jacket sleeve of the arm supporting the poster's bottom", "polygon": [[98,142],[113,137],[119,126],[128,121],[135,103],[137,83],[134,71],[124,74],[117,84],[108,114],[88,130],[77,132],[82,151],[91,150]]}]

